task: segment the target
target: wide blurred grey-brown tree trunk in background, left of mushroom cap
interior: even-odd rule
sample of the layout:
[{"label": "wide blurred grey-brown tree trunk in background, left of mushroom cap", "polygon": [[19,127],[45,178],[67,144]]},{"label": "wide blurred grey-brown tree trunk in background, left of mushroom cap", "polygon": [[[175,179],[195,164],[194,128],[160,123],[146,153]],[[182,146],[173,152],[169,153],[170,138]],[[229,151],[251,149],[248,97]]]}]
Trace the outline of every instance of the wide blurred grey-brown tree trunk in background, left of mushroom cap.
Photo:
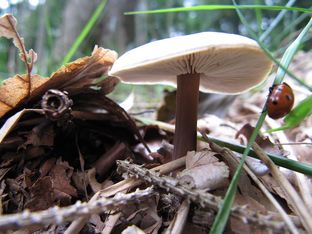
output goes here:
[{"label": "wide blurred grey-brown tree trunk in background, left of mushroom cap", "polygon": [[[54,54],[56,61],[62,61],[76,41],[77,37],[90,20],[102,0],[66,1],[62,22],[62,34],[56,40]],[[134,41],[134,16],[125,16],[124,12],[133,11],[136,0],[108,0],[89,35],[80,45],[75,58],[85,56],[95,44],[124,53],[128,44]]]}]

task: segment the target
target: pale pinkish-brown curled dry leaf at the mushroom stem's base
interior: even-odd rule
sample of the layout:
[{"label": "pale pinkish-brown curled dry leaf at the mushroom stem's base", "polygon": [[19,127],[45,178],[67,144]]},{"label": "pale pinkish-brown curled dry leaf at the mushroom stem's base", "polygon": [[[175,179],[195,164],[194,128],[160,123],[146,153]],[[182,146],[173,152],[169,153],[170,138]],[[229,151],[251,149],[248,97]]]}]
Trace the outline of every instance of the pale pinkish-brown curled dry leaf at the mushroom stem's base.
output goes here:
[{"label": "pale pinkish-brown curled dry leaf at the mushroom stem's base", "polygon": [[191,151],[186,155],[186,169],[179,174],[179,180],[190,182],[197,188],[210,190],[228,185],[229,168],[219,162],[216,153],[203,150]]}]

